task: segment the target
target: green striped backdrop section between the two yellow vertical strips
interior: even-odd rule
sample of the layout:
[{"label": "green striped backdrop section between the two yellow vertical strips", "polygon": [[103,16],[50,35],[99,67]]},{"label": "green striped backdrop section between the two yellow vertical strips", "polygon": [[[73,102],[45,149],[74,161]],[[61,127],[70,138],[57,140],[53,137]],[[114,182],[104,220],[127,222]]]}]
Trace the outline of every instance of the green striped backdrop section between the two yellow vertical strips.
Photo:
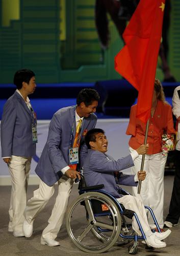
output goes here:
[{"label": "green striped backdrop section between the two yellow vertical strips", "polygon": [[22,66],[40,82],[59,81],[59,1],[22,1]]}]

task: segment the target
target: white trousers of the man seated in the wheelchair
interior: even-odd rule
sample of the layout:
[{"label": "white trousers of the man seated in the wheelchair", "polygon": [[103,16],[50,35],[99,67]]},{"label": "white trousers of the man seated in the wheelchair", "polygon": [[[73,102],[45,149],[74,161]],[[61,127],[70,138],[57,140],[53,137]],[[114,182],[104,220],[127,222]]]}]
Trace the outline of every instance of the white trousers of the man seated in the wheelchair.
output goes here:
[{"label": "white trousers of the man seated in the wheelchair", "polygon": [[[151,234],[151,230],[150,230],[150,227],[149,227],[149,224],[147,221],[146,211],[145,211],[145,208],[144,208],[144,205],[143,205],[141,199],[127,195],[127,196],[123,196],[121,198],[117,198],[117,201],[119,203],[123,204],[123,206],[126,209],[133,210],[134,212],[136,212],[145,235],[149,236],[149,234]],[[141,236],[141,232],[139,230],[139,225],[138,225],[135,217],[133,217],[132,227],[139,234],[139,236]]]}]

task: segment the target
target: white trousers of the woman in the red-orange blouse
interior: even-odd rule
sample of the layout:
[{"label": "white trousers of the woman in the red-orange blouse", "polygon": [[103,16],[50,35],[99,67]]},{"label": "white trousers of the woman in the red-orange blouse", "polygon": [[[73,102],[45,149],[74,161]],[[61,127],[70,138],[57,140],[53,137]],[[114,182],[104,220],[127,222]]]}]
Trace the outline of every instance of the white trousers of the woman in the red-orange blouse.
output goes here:
[{"label": "white trousers of the woman in the red-orange blouse", "polygon": [[[133,152],[130,147],[130,152]],[[142,199],[144,205],[149,206],[159,223],[160,228],[163,228],[163,206],[164,206],[164,168],[167,160],[167,155],[162,153],[145,155],[144,170],[146,178],[141,183],[141,194],[137,193],[138,187],[133,187],[133,195]],[[141,168],[142,155],[134,160],[135,166],[131,167],[132,174],[137,174]],[[156,227],[150,212],[147,212],[147,219],[151,228]]]}]

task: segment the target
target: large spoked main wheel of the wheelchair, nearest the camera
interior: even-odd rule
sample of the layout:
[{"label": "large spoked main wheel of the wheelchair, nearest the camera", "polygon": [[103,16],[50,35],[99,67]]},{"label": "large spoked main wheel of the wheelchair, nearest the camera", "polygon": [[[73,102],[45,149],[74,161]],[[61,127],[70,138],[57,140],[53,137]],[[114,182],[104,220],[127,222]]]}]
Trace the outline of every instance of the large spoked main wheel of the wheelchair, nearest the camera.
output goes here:
[{"label": "large spoked main wheel of the wheelchair, nearest the camera", "polygon": [[[109,208],[113,223],[107,215],[94,216],[92,201],[100,202]],[[71,203],[67,210],[66,227],[70,239],[78,248],[85,252],[101,253],[109,250],[117,241],[121,230],[121,216],[113,200],[102,193],[92,191],[79,196]],[[106,230],[108,239],[100,241],[94,236],[92,230],[97,228]]]}]

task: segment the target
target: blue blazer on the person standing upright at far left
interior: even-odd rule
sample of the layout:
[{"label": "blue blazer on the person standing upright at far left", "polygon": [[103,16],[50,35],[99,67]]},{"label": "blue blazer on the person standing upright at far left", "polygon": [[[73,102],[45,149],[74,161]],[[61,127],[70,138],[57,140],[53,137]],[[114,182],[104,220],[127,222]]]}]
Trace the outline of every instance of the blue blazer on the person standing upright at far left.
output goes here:
[{"label": "blue blazer on the person standing upright at far left", "polygon": [[33,143],[33,113],[23,98],[15,93],[6,101],[1,120],[2,157],[12,155],[32,157],[36,154]]}]

